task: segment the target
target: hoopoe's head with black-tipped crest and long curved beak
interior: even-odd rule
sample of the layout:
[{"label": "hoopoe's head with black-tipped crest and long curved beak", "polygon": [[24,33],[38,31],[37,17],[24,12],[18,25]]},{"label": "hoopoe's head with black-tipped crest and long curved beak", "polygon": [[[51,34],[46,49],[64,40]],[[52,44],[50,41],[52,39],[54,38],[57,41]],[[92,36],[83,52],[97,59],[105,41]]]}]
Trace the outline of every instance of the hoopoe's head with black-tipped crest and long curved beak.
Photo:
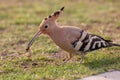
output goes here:
[{"label": "hoopoe's head with black-tipped crest and long curved beak", "polygon": [[31,41],[28,43],[26,50],[29,50],[31,47],[32,43],[35,41],[35,39],[40,35],[40,34],[49,34],[56,26],[56,20],[64,10],[64,7],[62,7],[60,10],[54,12],[47,18],[44,18],[39,25],[39,30],[36,32],[34,37],[31,39]]}]

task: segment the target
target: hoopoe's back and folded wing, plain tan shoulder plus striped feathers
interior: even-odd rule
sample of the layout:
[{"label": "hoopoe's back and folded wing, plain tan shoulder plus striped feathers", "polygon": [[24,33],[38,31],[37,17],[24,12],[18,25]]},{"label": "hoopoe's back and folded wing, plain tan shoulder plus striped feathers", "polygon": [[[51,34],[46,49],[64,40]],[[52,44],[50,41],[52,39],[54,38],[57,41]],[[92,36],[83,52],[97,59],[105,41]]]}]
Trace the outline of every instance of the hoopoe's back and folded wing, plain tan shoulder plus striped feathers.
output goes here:
[{"label": "hoopoe's back and folded wing, plain tan shoulder plus striped feathers", "polygon": [[105,40],[100,36],[89,34],[76,27],[64,27],[67,42],[72,49],[79,52],[89,52],[100,48],[110,47],[110,40]]}]

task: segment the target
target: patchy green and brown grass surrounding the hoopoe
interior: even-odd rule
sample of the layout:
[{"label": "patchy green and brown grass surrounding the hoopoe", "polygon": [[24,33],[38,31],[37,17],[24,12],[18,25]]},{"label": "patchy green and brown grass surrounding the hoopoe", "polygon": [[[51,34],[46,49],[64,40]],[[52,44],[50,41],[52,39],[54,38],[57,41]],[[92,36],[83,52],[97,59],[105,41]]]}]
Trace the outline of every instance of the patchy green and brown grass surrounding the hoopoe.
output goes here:
[{"label": "patchy green and brown grass surrounding the hoopoe", "polygon": [[46,35],[33,44],[32,59],[24,56],[26,45],[41,20],[62,6],[65,11],[59,24],[78,26],[120,44],[119,0],[1,0],[0,80],[75,80],[120,70],[119,47],[90,52],[84,64],[76,56],[57,66],[66,54]]}]

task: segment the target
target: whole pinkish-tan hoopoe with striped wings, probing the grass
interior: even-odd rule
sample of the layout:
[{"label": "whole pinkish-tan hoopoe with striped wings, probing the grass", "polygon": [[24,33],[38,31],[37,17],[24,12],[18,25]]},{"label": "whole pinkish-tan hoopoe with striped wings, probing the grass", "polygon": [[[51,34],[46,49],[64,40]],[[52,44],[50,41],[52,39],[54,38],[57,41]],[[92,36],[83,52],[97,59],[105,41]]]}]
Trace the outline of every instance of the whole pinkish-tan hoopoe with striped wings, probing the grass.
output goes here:
[{"label": "whole pinkish-tan hoopoe with striped wings, probing the grass", "polygon": [[115,44],[112,41],[106,40],[98,35],[89,34],[78,27],[58,25],[57,19],[63,10],[64,7],[43,19],[38,32],[27,45],[26,51],[28,52],[28,57],[31,55],[29,49],[32,43],[41,33],[47,34],[56,45],[69,53],[69,58],[67,58],[63,63],[66,63],[75,54],[80,54],[80,62],[83,62],[87,52],[100,48],[120,46],[119,44]]}]

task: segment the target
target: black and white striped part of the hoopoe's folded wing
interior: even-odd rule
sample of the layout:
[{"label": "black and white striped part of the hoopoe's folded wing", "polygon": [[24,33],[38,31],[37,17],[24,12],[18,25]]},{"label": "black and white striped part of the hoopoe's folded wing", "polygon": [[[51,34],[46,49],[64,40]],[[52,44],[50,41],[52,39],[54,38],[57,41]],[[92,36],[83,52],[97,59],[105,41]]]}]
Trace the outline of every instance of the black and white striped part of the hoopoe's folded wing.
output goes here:
[{"label": "black and white striped part of the hoopoe's folded wing", "polygon": [[81,32],[81,37],[72,43],[76,51],[88,52],[104,47],[109,47],[109,42],[102,37]]}]

